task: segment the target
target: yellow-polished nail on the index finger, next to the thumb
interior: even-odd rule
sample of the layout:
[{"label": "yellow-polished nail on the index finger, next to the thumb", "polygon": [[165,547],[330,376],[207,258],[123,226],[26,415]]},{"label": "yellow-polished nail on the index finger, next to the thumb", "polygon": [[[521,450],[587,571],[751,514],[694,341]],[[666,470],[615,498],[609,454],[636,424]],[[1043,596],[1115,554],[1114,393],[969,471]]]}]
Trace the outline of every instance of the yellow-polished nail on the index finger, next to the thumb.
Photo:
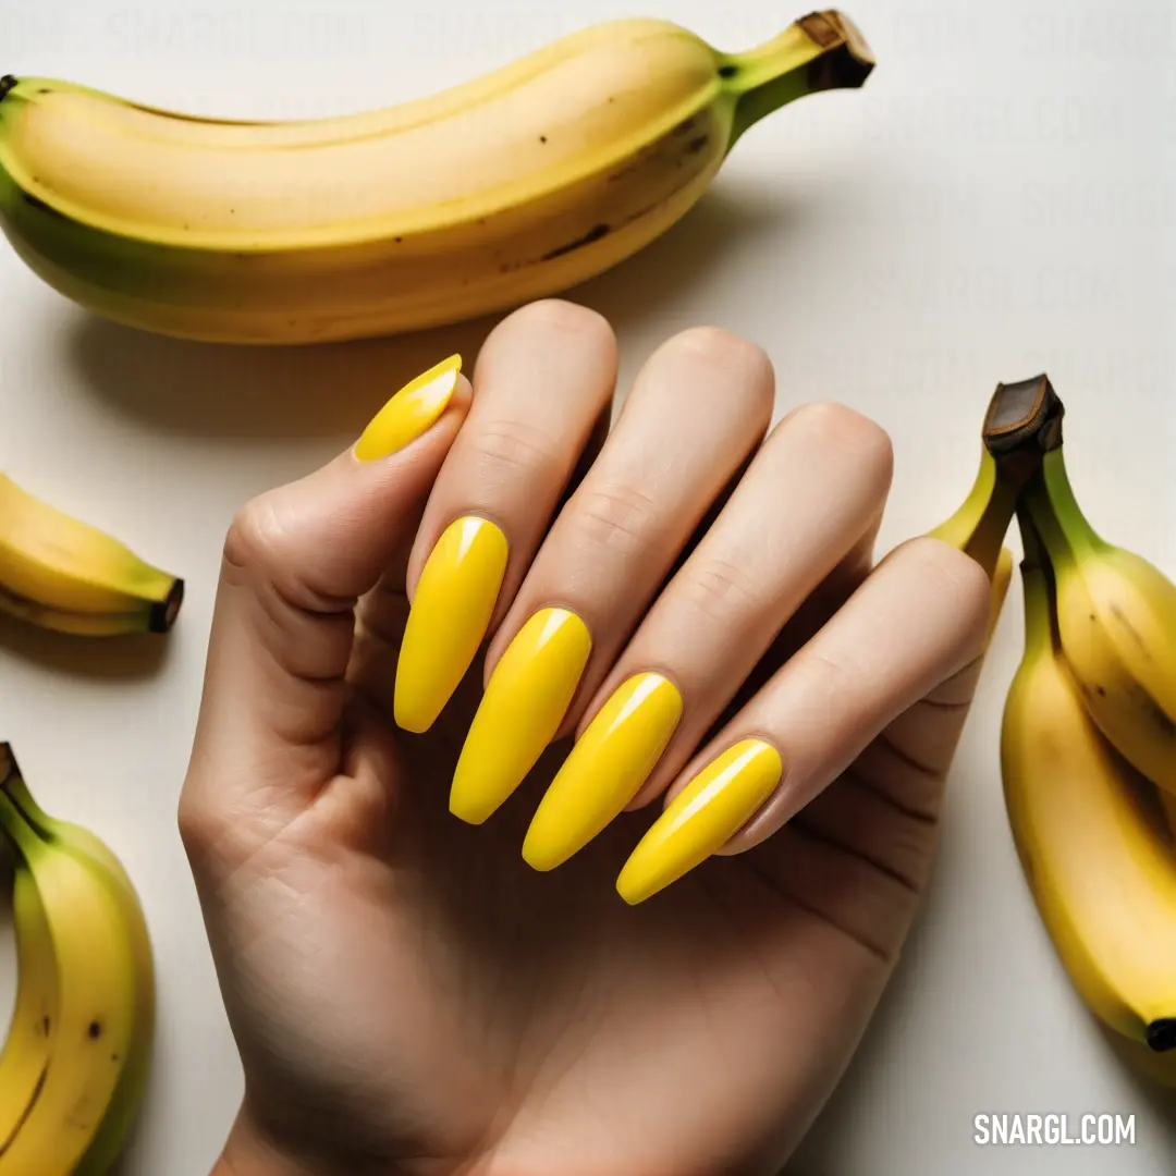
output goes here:
[{"label": "yellow-polished nail on the index finger, next to the thumb", "polygon": [[400,647],[397,727],[427,731],[445,709],[486,636],[506,570],[507,537],[486,519],[459,519],[437,540]]}]

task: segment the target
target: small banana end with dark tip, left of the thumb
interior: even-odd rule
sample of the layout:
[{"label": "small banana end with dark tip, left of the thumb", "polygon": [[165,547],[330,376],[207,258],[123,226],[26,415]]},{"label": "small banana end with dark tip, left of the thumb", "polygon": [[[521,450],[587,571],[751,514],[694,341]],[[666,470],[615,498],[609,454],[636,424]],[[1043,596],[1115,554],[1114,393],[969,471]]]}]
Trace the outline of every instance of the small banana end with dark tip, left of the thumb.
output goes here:
[{"label": "small banana end with dark tip, left of the thumb", "polygon": [[0,612],[61,633],[165,633],[183,581],[0,474]]}]

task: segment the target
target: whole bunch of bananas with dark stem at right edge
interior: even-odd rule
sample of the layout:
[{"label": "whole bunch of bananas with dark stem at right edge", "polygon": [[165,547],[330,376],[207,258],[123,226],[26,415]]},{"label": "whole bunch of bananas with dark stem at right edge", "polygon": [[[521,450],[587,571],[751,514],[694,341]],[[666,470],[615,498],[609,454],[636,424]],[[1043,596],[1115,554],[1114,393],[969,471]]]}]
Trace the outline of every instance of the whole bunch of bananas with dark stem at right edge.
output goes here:
[{"label": "whole bunch of bananas with dark stem at right edge", "polygon": [[1044,375],[998,386],[976,489],[940,533],[987,512],[970,553],[989,566],[1017,520],[1025,648],[1001,731],[1013,838],[1078,995],[1125,1061],[1176,1087],[1176,584],[1087,521],[1063,415]]}]

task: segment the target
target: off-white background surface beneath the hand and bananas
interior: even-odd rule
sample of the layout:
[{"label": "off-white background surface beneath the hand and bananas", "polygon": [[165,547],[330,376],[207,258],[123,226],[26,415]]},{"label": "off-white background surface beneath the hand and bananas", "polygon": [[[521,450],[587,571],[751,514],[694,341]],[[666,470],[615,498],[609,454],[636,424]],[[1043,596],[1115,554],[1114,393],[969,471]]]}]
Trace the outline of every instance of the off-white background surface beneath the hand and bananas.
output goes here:
[{"label": "off-white background surface beneath the hand and bananas", "polygon": [[[620,0],[7,0],[0,72],[226,116],[335,114],[461,81]],[[722,48],[807,11],[643,0]],[[1176,575],[1176,6],[1171,0],[850,0],[878,68],[740,142],[667,238],[573,296],[607,313],[622,386],[669,333],[762,343],[779,412],[835,397],[894,437],[883,546],[971,485],[997,381],[1045,370],[1081,502]],[[405,379],[488,323],[306,350],[185,345],[92,320],[0,248],[0,468],[183,574],[147,654],[0,627],[0,737],[35,794],[141,888],[159,1050],[123,1176],[205,1176],[241,1082],[175,831],[220,544],[234,508],[346,447]],[[1000,795],[1014,583],[950,786],[933,893],[799,1176],[1152,1176],[1176,1111],[1109,1055],[1027,896]],[[13,957],[0,911],[0,1020]],[[787,1048],[787,1043],[781,1043]],[[1134,1114],[1136,1145],[981,1148],[987,1111]],[[553,1174],[556,1176],[556,1174]]]}]

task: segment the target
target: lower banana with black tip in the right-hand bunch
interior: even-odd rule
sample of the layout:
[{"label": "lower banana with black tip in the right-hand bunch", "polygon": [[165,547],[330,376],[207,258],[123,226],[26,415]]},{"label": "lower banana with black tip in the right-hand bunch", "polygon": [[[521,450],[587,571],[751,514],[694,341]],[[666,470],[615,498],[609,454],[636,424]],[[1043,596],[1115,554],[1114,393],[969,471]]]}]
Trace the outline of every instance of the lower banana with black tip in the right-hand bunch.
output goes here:
[{"label": "lower banana with black tip in the right-hand bunch", "polygon": [[1001,731],[1013,837],[1088,1008],[1136,1045],[1167,1053],[1176,1047],[1176,855],[1154,791],[1083,706],[1029,534],[1025,550],[1025,652]]}]

